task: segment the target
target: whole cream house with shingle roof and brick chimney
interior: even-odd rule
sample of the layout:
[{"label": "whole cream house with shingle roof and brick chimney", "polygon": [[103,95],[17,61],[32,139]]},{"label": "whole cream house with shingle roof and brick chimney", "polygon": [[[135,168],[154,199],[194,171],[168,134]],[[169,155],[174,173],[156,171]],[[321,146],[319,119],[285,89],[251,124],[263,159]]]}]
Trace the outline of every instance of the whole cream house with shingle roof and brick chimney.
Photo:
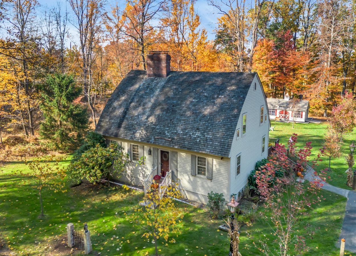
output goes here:
[{"label": "whole cream house with shingle roof and brick chimney", "polygon": [[[147,73],[132,70],[111,95],[96,132],[130,155],[120,181],[147,186],[171,177],[188,199],[226,201],[267,157],[270,127],[256,73],[170,70],[170,55],[147,55]],[[138,159],[145,158],[143,165]]]}]

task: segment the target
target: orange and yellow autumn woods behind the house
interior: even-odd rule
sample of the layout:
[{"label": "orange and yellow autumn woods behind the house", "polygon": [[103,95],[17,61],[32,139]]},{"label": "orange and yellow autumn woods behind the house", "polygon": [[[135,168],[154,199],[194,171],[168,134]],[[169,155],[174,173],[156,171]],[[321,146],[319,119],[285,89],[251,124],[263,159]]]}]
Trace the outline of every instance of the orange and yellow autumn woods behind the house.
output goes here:
[{"label": "orange and yellow autumn woods behind the house", "polygon": [[[255,71],[268,97],[302,94],[326,116],[355,92],[355,0],[207,0],[220,17],[207,39],[195,0],[1,0],[0,132],[35,134],[48,75],[82,89],[95,127],[108,97],[149,50],[168,50],[177,71]],[[69,36],[69,28],[72,27]],[[73,27],[75,34],[73,34]],[[73,39],[74,38],[74,39]]]}]

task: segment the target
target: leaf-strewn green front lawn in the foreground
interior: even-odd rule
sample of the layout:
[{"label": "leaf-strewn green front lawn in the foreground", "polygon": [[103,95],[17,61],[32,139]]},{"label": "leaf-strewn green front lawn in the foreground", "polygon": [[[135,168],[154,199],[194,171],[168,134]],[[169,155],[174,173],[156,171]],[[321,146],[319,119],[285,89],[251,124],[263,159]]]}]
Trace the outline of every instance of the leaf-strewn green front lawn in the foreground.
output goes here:
[{"label": "leaf-strewn green front lawn in the foreground", "polygon": [[[67,164],[68,159],[63,161],[63,165]],[[77,229],[88,223],[93,249],[100,251],[101,255],[153,254],[154,244],[141,238],[143,231],[131,223],[129,217],[143,192],[84,185],[67,186],[65,193],[44,191],[46,217],[38,219],[40,208],[37,194],[28,186],[18,186],[19,180],[9,175],[9,172],[19,168],[26,169],[21,162],[12,162],[0,173],[0,241],[2,238],[5,246],[15,254],[45,255],[51,252],[51,255],[68,255],[69,251],[63,251],[63,245],[69,222],[74,223]],[[340,234],[346,198],[326,191],[322,194],[325,200],[310,210],[310,215],[299,224],[298,229],[303,230],[308,247],[304,255],[336,255],[339,250],[335,243]],[[166,246],[165,241],[159,241],[162,255],[227,254],[227,234],[217,229],[224,223],[223,220],[210,220],[203,209],[183,203],[179,206],[185,212],[180,224],[182,233],[174,237],[174,244]],[[242,226],[240,238],[240,251],[244,256],[260,255],[253,241],[270,239],[270,244],[276,244],[271,229],[262,221]],[[2,253],[4,248],[0,248],[0,255]]]}]

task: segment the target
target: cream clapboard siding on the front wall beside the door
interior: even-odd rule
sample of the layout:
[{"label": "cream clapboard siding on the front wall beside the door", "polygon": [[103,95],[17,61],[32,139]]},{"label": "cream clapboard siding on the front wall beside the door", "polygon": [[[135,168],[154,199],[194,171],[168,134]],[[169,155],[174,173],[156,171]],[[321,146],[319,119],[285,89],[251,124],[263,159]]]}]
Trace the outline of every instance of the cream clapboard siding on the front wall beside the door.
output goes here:
[{"label": "cream clapboard siding on the front wall beside the door", "polygon": [[[123,152],[127,153],[127,143],[143,145],[144,146],[144,156],[146,156],[145,163],[136,166],[136,162],[132,161],[126,168],[126,171],[121,174],[117,179],[120,181],[128,182],[133,185],[143,185],[143,181],[152,171],[153,155],[148,155],[148,147],[153,147],[168,150],[177,151],[178,153],[178,174],[177,182],[182,186],[185,196],[188,199],[207,203],[207,195],[210,191],[224,193],[226,201],[229,200],[229,173],[230,173],[230,159],[221,156],[214,156],[209,154],[203,154],[193,151],[181,150],[176,148],[169,148],[165,146],[159,146],[154,144],[147,144],[141,142],[134,142],[129,140],[121,140],[112,137],[105,137],[106,139],[115,140],[117,142],[122,142]],[[202,156],[205,158],[213,159],[213,178],[210,180],[206,177],[193,176],[191,174],[191,155]]]}]

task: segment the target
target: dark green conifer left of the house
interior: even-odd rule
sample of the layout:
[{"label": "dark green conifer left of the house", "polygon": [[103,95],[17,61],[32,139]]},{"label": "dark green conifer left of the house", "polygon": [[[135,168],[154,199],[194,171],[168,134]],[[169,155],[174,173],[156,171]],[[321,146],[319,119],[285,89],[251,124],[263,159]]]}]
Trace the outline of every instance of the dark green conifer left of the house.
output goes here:
[{"label": "dark green conifer left of the house", "polygon": [[42,86],[40,135],[56,150],[75,146],[88,129],[87,110],[73,101],[82,93],[73,76],[54,74]]}]

